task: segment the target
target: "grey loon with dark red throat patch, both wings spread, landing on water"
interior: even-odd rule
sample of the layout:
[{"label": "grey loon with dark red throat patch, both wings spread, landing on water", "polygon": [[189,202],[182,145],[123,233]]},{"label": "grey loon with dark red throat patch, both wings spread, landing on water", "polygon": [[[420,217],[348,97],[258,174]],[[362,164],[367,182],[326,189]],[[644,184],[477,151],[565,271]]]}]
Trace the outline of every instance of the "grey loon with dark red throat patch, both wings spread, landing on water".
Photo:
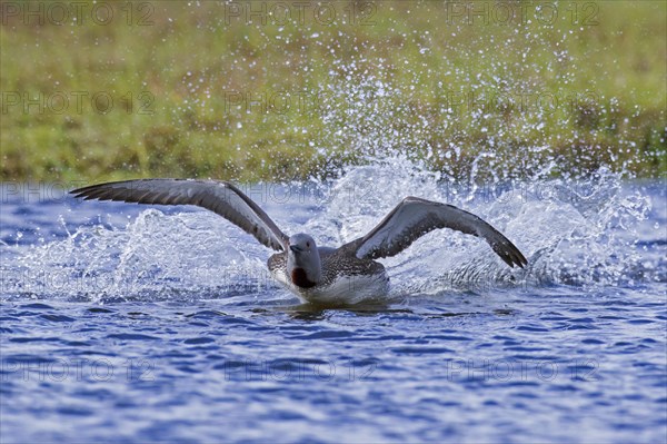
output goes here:
[{"label": "grey loon with dark red throat patch, both wings spread, landing on water", "polygon": [[395,256],[436,228],[484,238],[510,267],[528,264],[496,228],[455,206],[406,197],[366,236],[339,248],[318,247],[306,234],[283,234],[271,218],[227,181],[139,179],[93,185],[70,191],[76,197],[139,204],[196,205],[209,209],[262,245],[279,253],[269,258],[271,275],[300,299],[318,304],[356,304],[387,294],[389,278],[375,259]]}]

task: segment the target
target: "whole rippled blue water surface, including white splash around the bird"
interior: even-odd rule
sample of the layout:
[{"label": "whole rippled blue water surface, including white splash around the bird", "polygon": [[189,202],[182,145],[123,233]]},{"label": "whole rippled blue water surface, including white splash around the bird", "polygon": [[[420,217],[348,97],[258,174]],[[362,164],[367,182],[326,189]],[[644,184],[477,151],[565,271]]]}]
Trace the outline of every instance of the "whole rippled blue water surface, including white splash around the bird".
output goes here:
[{"label": "whole rippled blue water surface, including white splash around the bird", "polygon": [[664,184],[399,172],[248,191],[321,245],[400,196],[447,200],[529,268],[441,230],[385,260],[384,306],[318,309],[216,215],[4,186],[0,441],[664,443]]}]

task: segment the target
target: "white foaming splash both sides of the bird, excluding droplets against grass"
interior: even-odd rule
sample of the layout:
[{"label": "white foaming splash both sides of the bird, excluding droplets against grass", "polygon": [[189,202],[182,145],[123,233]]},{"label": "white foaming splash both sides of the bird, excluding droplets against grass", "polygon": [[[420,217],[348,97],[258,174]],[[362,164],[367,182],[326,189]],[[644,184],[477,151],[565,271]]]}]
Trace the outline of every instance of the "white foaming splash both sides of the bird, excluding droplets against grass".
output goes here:
[{"label": "white foaming splash both sides of the bird, excluding droplets against grass", "polygon": [[[619,175],[609,171],[577,182],[455,187],[444,175],[399,154],[348,167],[339,179],[317,182],[316,188],[306,203],[300,196],[287,206],[267,203],[267,210],[287,233],[310,231],[320,245],[340,245],[371,229],[402,197],[416,195],[478,214],[529,262],[525,270],[510,269],[484,241],[437,230],[382,260],[391,276],[391,297],[665,282],[665,259],[641,249],[639,230],[650,198],[624,187]],[[295,216],[292,208],[303,206],[310,209]],[[257,304],[291,297],[266,269],[269,251],[207,211],[147,209],[126,226],[98,223],[80,226],[61,240],[2,248],[16,257],[16,265],[4,269],[3,298],[103,303],[238,296]]]}]

